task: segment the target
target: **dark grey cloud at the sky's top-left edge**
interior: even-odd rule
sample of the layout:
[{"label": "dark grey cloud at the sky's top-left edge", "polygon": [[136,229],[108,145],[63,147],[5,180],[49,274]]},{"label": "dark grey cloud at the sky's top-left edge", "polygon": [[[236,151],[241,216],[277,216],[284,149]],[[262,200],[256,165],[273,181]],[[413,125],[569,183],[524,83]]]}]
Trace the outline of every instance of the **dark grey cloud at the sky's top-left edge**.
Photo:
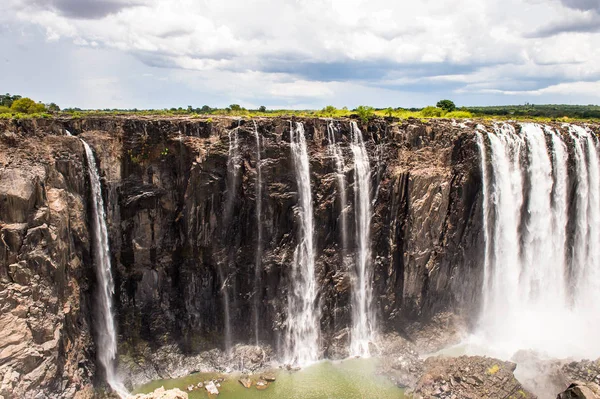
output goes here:
[{"label": "dark grey cloud at the sky's top-left edge", "polygon": [[126,8],[143,5],[139,0],[32,0],[30,3],[76,19],[100,19]]}]

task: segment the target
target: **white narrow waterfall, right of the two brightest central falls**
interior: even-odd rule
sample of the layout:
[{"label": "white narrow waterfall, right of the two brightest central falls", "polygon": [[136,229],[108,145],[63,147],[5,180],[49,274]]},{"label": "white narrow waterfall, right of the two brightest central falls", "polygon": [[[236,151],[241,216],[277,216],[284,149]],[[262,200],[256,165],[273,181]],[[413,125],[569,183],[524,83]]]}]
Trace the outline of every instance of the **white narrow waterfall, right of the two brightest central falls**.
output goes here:
[{"label": "white narrow waterfall, right of the two brightest central falls", "polygon": [[373,270],[371,265],[371,166],[362,132],[351,123],[354,155],[354,204],[356,218],[356,275],[352,290],[351,356],[369,356],[369,342],[375,331],[373,311]]}]

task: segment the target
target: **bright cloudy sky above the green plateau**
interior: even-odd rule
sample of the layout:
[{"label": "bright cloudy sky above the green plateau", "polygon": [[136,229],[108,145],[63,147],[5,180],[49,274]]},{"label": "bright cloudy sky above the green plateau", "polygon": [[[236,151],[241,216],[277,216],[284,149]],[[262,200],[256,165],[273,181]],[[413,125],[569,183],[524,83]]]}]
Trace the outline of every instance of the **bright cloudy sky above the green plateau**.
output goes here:
[{"label": "bright cloudy sky above the green plateau", "polygon": [[63,108],[600,103],[600,0],[2,3],[0,92]]}]

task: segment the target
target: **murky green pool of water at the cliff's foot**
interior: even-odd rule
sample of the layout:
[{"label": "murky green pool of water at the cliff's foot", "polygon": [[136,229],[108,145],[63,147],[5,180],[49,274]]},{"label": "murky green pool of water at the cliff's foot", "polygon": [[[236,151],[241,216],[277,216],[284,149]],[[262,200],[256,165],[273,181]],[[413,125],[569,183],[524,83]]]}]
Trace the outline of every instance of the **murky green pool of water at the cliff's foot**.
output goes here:
[{"label": "murky green pool of water at the cliff's foot", "polygon": [[[277,379],[266,390],[255,386],[247,389],[239,382],[239,375],[226,375],[221,383],[218,399],[401,399],[402,389],[383,376],[376,374],[376,359],[350,359],[340,362],[323,361],[296,372],[278,370]],[[174,380],[153,381],[139,387],[134,393],[148,393],[164,386],[179,388],[190,399],[206,399],[204,388],[188,392],[189,385],[216,378],[216,374],[192,374]],[[260,374],[250,376],[256,382]]]}]

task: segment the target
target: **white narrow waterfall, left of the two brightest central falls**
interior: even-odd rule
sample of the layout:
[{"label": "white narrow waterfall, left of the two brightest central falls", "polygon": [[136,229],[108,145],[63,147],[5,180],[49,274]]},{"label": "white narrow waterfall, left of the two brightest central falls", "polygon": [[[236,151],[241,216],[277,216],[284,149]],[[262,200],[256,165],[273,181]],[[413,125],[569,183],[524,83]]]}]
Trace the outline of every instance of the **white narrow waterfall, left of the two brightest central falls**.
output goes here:
[{"label": "white narrow waterfall, left of the two brightest central falls", "polygon": [[288,294],[285,361],[306,365],[319,358],[319,310],[315,276],[314,220],[310,164],[304,125],[290,122],[290,148],[298,184],[298,244]]}]

